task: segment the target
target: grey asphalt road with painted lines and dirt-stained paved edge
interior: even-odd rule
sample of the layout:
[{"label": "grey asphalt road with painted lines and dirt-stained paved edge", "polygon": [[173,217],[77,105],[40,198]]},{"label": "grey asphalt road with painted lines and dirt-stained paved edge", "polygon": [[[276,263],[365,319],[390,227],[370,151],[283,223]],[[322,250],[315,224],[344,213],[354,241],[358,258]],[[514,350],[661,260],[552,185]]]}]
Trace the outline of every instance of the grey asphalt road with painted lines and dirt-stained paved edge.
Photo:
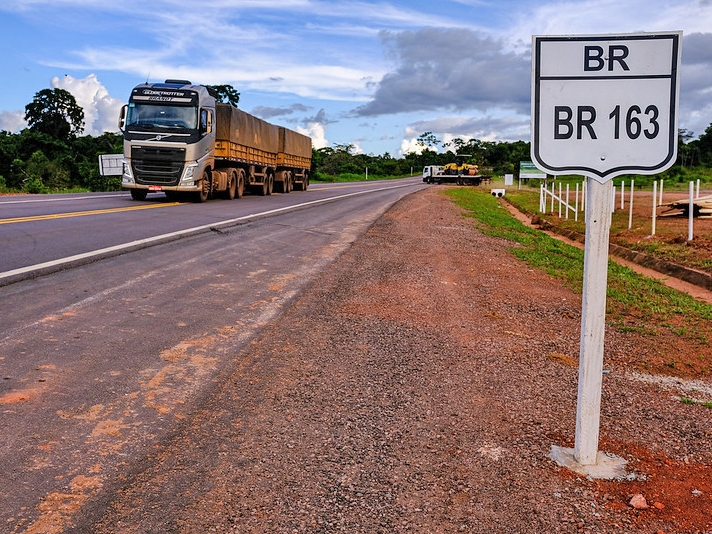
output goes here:
[{"label": "grey asphalt road with painted lines and dirt-stained paved edge", "polygon": [[206,204],[0,198],[0,531],[71,525],[187,424],[306,284],[423,186]]}]

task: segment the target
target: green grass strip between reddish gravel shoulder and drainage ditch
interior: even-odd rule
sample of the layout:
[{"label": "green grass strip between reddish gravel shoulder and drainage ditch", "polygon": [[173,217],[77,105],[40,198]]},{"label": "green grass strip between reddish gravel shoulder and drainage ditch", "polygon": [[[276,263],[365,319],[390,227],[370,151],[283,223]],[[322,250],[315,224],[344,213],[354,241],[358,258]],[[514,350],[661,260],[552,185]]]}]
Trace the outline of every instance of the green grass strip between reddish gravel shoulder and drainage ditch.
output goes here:
[{"label": "green grass strip between reddish gravel shoulder and drainage ditch", "polygon": [[[582,290],[582,250],[524,226],[487,191],[463,187],[449,189],[446,194],[469,212],[482,232],[510,241],[518,258],[573,290]],[[610,323],[622,330],[665,332],[703,345],[710,343],[712,306],[615,262],[609,262],[608,269]]]}]

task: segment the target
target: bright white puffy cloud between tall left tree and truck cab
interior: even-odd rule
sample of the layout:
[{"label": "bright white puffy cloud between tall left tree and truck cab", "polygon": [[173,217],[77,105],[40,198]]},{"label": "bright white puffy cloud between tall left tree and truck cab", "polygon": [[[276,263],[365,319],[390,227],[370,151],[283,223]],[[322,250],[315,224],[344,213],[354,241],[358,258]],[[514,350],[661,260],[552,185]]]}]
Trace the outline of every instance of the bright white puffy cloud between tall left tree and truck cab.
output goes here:
[{"label": "bright white puffy cloud between tall left tree and truck cab", "polygon": [[84,135],[96,137],[104,132],[119,131],[119,111],[124,102],[109,95],[96,74],[86,78],[55,76],[52,87],[69,91],[84,110]]}]

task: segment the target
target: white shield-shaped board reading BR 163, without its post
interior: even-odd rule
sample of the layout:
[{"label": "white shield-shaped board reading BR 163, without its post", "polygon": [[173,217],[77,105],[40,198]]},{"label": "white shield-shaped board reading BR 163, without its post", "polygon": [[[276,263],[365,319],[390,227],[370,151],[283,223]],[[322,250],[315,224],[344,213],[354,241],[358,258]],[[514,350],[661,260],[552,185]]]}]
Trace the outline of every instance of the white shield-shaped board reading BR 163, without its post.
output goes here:
[{"label": "white shield-shaped board reading BR 163, without its post", "polygon": [[675,163],[682,32],[533,36],[532,159],[605,182]]}]

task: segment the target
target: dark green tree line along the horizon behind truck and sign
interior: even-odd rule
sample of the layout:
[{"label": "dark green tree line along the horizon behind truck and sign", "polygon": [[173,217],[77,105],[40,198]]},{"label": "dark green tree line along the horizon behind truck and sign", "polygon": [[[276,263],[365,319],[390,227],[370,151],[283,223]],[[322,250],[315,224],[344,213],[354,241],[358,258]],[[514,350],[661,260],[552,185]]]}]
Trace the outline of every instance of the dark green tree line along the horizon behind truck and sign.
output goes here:
[{"label": "dark green tree line along the horizon behind truck and sign", "polygon": [[[240,94],[231,86],[211,87],[216,98],[234,105]],[[101,176],[101,154],[123,151],[119,133],[81,136],[84,111],[64,89],[43,89],[25,106],[27,128],[18,134],[0,132],[0,192],[112,191],[121,188],[120,176]],[[668,175],[682,182],[686,169],[712,167],[712,124],[698,139],[680,130],[678,161]],[[312,176],[317,180],[388,178],[419,174],[426,165],[445,165],[456,155],[476,164],[483,174],[515,174],[520,161],[530,159],[525,141],[492,142],[456,138],[447,143],[432,133],[421,134],[415,148],[403,157],[389,153],[356,153],[354,145],[337,144],[312,150]]]}]

